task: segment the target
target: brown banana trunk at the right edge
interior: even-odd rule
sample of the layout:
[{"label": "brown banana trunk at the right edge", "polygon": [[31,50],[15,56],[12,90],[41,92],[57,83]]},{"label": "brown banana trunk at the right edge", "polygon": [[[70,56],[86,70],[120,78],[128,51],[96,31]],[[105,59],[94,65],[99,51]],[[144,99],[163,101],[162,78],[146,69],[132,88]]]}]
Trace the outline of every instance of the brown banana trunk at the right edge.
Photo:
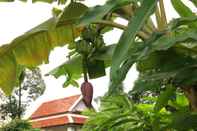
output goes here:
[{"label": "brown banana trunk at the right edge", "polygon": [[193,112],[197,112],[197,87],[196,86],[190,86],[183,89],[189,104],[190,104],[190,110]]}]

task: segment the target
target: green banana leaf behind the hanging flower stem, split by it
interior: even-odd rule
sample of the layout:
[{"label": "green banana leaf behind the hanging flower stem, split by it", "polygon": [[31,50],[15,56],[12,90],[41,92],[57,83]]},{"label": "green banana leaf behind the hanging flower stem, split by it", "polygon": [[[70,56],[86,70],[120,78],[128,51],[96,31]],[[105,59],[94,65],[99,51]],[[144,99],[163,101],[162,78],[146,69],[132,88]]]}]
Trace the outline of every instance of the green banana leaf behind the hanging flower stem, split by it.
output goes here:
[{"label": "green banana leaf behind the hanging flower stem, split by it", "polygon": [[[98,78],[105,74],[103,68],[111,65],[111,58],[114,51],[115,45],[110,45],[103,48],[102,51],[96,52],[88,62],[88,73],[90,78]],[[104,63],[103,63],[104,61]],[[82,57],[72,57],[62,65],[56,67],[50,71],[47,75],[53,75],[56,78],[65,75],[67,80],[64,85],[68,86],[73,81],[80,78],[82,74]],[[72,83],[70,83],[72,82]],[[64,86],[64,87],[66,87]]]}]

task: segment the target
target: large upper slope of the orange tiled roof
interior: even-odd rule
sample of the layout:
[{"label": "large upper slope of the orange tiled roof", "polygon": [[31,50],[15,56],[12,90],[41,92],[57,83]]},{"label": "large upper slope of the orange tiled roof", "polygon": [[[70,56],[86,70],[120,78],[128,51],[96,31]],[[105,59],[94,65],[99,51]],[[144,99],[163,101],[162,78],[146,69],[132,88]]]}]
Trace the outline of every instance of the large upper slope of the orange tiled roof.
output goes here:
[{"label": "large upper slope of the orange tiled roof", "polygon": [[31,115],[30,119],[66,113],[79,97],[80,95],[75,95],[45,102]]}]

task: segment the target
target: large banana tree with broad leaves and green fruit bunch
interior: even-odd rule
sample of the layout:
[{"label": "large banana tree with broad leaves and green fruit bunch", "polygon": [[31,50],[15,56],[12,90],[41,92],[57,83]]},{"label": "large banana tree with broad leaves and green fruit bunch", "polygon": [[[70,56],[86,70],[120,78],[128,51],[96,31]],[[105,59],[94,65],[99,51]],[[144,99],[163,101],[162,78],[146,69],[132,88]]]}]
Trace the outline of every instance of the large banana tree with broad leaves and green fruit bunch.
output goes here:
[{"label": "large banana tree with broad leaves and green fruit bunch", "polygon": [[[64,86],[77,85],[82,74],[84,79],[101,77],[105,68],[111,67],[108,95],[117,95],[123,90],[127,72],[136,64],[140,74],[132,92],[162,89],[156,112],[168,105],[169,96],[177,90],[184,92],[191,111],[197,111],[197,16],[181,0],[171,0],[180,18],[170,22],[163,0],[108,0],[95,7],[87,7],[80,0],[33,2],[37,1],[68,5],[0,48],[0,87],[4,92],[9,94],[17,86],[21,68],[47,63],[54,47],[68,44],[70,59],[49,73],[66,75]],[[196,7],[195,0],[190,2]],[[125,26],[116,18],[129,23]],[[123,30],[123,34],[117,44],[108,45],[103,34],[113,28]]]}]

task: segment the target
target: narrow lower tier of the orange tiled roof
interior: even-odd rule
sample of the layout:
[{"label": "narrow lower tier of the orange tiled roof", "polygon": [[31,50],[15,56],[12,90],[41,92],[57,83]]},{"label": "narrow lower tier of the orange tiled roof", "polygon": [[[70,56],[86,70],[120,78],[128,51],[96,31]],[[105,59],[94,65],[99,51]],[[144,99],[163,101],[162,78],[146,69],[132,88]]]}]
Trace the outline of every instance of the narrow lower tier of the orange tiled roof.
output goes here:
[{"label": "narrow lower tier of the orange tiled roof", "polygon": [[60,116],[56,118],[49,118],[49,119],[43,119],[43,120],[36,120],[32,121],[33,128],[45,128],[45,127],[52,127],[52,126],[60,126],[60,125],[66,125],[66,124],[79,124],[82,125],[86,121],[86,117],[83,116],[70,116],[73,121],[69,121],[69,116]]}]

